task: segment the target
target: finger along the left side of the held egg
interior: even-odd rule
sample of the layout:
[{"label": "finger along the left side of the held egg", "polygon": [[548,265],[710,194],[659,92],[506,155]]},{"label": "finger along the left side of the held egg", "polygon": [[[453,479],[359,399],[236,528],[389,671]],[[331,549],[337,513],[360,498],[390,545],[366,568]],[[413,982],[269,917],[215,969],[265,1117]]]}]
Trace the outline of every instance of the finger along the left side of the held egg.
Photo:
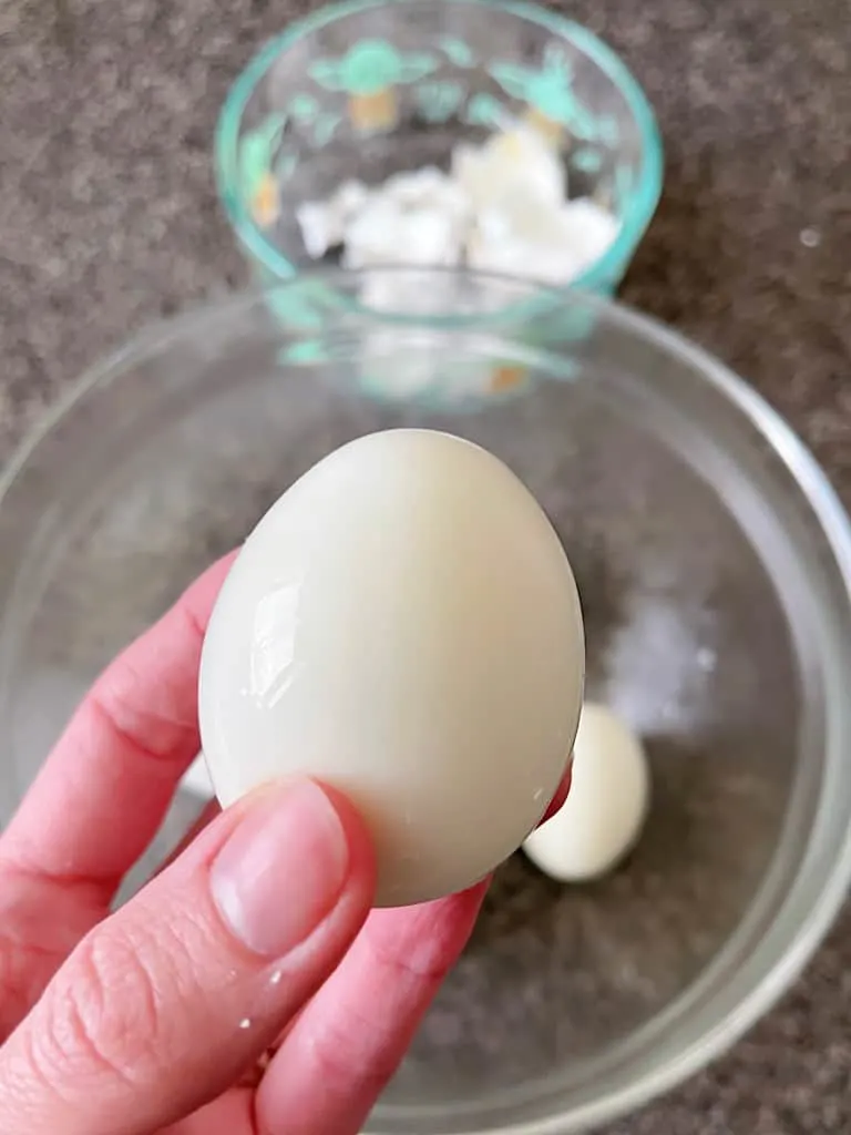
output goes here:
[{"label": "finger along the left side of the held egg", "polygon": [[209,568],[96,680],[0,840],[3,860],[112,898],[199,750],[201,646],[234,556]]}]

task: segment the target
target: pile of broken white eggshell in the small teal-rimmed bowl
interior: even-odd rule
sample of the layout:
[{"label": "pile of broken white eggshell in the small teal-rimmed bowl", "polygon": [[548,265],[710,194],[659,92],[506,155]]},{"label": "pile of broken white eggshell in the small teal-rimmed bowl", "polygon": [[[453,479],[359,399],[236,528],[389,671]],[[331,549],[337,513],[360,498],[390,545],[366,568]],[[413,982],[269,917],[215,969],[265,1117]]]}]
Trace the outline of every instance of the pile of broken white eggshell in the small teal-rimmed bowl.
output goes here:
[{"label": "pile of broken white eggshell in the small teal-rimmed bowl", "polygon": [[590,199],[567,200],[562,155],[529,125],[480,146],[458,143],[448,174],[424,166],[371,190],[348,182],[296,215],[309,255],[342,245],[347,268],[465,262],[556,286],[581,276],[620,230],[617,218]]}]

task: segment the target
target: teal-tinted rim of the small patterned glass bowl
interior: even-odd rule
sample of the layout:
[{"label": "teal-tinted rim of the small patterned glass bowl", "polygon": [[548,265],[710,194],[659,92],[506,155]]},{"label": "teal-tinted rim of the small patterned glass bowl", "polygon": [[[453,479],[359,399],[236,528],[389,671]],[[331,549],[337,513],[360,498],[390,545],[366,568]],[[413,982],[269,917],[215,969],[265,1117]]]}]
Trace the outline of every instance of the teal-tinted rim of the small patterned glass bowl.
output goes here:
[{"label": "teal-tinted rim of the small patterned glass bowl", "polygon": [[[248,62],[228,92],[216,126],[213,143],[216,158],[216,182],[219,197],[234,232],[245,251],[270,272],[272,278],[286,280],[300,274],[301,269],[267,241],[255,225],[239,193],[237,182],[239,124],[252,92],[262,81],[275,60],[300,40],[320,27],[354,16],[371,8],[401,7],[404,3],[420,3],[422,0],[344,0],[343,3],[327,5],[303,19],[295,20],[286,32],[270,40]],[[612,278],[623,274],[623,268],[632,258],[639,241],[650,224],[662,194],[663,145],[656,124],[656,116],[641,85],[612,48],[587,27],[564,16],[555,15],[537,5],[520,0],[439,0],[443,5],[465,5],[482,9],[499,10],[517,19],[538,24],[554,36],[568,40],[591,59],[621,91],[638,124],[642,138],[642,162],[638,185],[630,194],[617,238],[606,253],[588,268],[574,287],[596,291],[610,286]]]}]

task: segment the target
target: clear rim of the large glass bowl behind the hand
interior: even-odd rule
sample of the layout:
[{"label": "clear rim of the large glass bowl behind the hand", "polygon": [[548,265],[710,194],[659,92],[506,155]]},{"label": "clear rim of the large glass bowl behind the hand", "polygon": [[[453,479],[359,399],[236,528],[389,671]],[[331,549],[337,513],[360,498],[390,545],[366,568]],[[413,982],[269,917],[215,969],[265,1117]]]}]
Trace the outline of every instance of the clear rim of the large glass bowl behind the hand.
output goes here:
[{"label": "clear rim of the large glass bowl behind the hand", "polygon": [[[422,274],[423,270],[418,272]],[[332,278],[343,274],[331,271],[313,275],[319,278]],[[345,275],[351,277],[357,274]],[[558,297],[558,293],[553,289],[548,292],[546,288],[530,286],[530,291],[539,295],[549,294],[554,301]],[[260,309],[267,302],[264,294],[263,289],[248,289],[241,295],[230,295],[195,311],[159,322],[143,330],[126,347],[113,352],[86,371],[52,411],[30,431],[0,473],[0,515],[5,499],[17,477],[33,457],[37,459],[40,443],[61,426],[62,420],[78,403],[84,403],[86,397],[96,395],[98,387],[109,385],[113,379],[120,378],[121,375],[143,363],[145,359],[167,350],[174,342],[187,337],[203,338],[205,327],[220,328],[225,320],[238,317],[241,312],[247,313]],[[699,373],[700,380],[711,387],[767,443],[772,455],[792,476],[806,505],[818,521],[826,547],[829,549],[832,566],[842,585],[845,614],[851,617],[851,522],[825,473],[791,427],[743,379],[676,331],[624,304],[604,297],[582,294],[575,299],[578,303],[592,310],[595,317],[604,325],[608,322],[634,337],[652,342],[671,355],[682,359],[684,365]],[[474,321],[472,317],[471,323]],[[12,572],[12,577],[16,574]],[[0,600],[5,602],[5,598],[0,597]],[[1,629],[2,620],[0,620]],[[839,631],[834,632],[834,642],[839,634]],[[843,650],[848,653],[845,642]],[[845,681],[846,672],[835,675],[834,692],[837,684],[844,684]],[[664,1059],[658,1059],[658,1054],[651,1050],[650,1057],[639,1060],[639,1070],[629,1083],[605,1096],[595,1098],[575,1108],[554,1110],[546,1117],[500,1124],[496,1128],[489,1125],[487,1129],[480,1130],[465,1126],[463,1135],[494,1135],[495,1130],[498,1130],[499,1135],[565,1135],[567,1132],[587,1130],[612,1121],[673,1088],[721,1056],[789,989],[829,931],[851,882],[851,793],[845,792],[839,806],[836,793],[837,779],[845,789],[849,788],[851,707],[845,705],[846,698],[825,700],[828,718],[825,731],[826,759],[816,814],[794,875],[777,909],[772,911],[767,925],[760,930],[757,948],[742,957],[741,927],[734,931],[721,957],[710,962],[708,972],[664,1009],[655,1022],[651,1022],[656,1025],[668,1017],[673,1018],[681,1003],[686,1000],[697,1002],[700,1010],[700,995],[710,991],[716,970],[722,972],[722,964],[731,956],[738,956],[739,960],[732,976],[722,974],[721,995],[713,1009],[713,1015],[716,1017],[713,1027],[703,1031],[690,1029],[693,1035],[689,1036],[688,1043],[674,1052],[668,1052]],[[829,844],[829,848],[825,844]],[[814,878],[817,880],[817,885],[810,885]],[[758,892],[755,905],[759,905],[759,897]],[[629,1062],[629,1052],[624,1056]],[[381,1129],[387,1129],[386,1123]],[[410,1126],[407,1129],[411,1130]]]}]

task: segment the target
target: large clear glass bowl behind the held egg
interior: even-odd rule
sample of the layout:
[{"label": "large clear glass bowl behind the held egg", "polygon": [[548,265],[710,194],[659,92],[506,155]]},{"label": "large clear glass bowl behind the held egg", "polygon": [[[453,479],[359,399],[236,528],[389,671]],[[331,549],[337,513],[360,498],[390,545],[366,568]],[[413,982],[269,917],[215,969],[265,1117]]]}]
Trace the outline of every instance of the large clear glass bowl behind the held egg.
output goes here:
[{"label": "large clear glass bowl behind the held egg", "polygon": [[[373,289],[433,310],[371,311]],[[401,359],[418,384],[395,382]],[[508,280],[338,276],[188,316],[89,373],[1,486],[0,802],[96,671],[294,478],[413,424],[492,449],[547,508],[588,693],[643,737],[654,793],[606,880],[505,864],[369,1129],[576,1132],[750,1025],[851,869],[846,519],[757,395],[658,325]],[[143,873],[194,809],[179,793]]]}]

